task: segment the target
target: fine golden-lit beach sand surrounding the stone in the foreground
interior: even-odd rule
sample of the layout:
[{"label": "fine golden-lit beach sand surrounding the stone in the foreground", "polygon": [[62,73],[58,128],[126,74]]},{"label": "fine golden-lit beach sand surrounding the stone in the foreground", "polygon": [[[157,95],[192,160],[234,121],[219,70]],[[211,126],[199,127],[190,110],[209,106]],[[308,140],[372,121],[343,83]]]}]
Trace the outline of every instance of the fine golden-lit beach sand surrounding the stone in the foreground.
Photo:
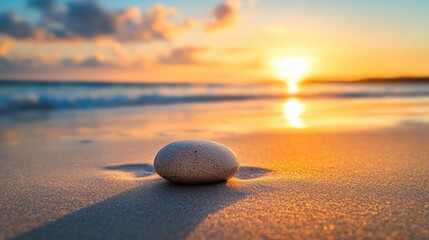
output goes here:
[{"label": "fine golden-lit beach sand surrounding the stone in the foreground", "polygon": [[0,153],[0,239],[429,238],[429,127],[263,132],[219,139],[226,183],[154,173],[174,139]]}]

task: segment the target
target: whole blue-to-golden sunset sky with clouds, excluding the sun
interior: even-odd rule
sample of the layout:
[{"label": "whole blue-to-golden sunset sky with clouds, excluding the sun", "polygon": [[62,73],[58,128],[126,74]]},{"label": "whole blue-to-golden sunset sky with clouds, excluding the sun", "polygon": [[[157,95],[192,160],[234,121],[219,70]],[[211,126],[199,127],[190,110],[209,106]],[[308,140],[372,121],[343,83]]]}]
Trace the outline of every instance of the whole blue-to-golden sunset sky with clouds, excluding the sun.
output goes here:
[{"label": "whole blue-to-golden sunset sky with clouds, excluding the sun", "polygon": [[[142,82],[429,76],[427,0],[0,2],[0,78]],[[284,67],[284,66],[283,66]]]}]

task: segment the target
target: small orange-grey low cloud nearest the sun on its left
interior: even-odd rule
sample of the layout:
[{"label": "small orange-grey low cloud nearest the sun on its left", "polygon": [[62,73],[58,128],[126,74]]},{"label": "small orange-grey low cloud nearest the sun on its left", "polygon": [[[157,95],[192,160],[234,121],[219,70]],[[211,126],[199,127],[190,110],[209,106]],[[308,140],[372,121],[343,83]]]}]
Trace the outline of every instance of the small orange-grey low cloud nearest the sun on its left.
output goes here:
[{"label": "small orange-grey low cloud nearest the sun on its left", "polygon": [[198,55],[206,50],[207,48],[204,47],[176,48],[169,54],[160,56],[158,63],[172,65],[205,64],[206,62],[200,60]]}]

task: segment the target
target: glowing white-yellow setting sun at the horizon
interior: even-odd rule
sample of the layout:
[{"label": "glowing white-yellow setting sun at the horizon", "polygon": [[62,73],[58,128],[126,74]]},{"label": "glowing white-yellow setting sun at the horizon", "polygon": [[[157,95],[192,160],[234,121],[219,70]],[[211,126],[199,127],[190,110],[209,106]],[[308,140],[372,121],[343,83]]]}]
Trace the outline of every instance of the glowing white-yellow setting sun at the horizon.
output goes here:
[{"label": "glowing white-yellow setting sun at the horizon", "polygon": [[286,81],[288,92],[298,93],[298,84],[308,74],[310,61],[305,58],[288,57],[274,59],[272,65],[277,69],[279,77]]}]

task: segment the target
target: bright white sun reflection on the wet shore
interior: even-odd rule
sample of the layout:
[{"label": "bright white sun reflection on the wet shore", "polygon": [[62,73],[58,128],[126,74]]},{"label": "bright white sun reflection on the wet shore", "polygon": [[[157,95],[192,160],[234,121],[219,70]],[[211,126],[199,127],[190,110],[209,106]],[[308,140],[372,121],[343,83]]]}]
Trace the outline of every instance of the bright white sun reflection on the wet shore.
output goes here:
[{"label": "bright white sun reflection on the wet shore", "polygon": [[291,98],[283,105],[283,117],[288,121],[291,128],[306,128],[302,114],[304,114],[306,107],[303,103],[299,102],[296,98]]}]

